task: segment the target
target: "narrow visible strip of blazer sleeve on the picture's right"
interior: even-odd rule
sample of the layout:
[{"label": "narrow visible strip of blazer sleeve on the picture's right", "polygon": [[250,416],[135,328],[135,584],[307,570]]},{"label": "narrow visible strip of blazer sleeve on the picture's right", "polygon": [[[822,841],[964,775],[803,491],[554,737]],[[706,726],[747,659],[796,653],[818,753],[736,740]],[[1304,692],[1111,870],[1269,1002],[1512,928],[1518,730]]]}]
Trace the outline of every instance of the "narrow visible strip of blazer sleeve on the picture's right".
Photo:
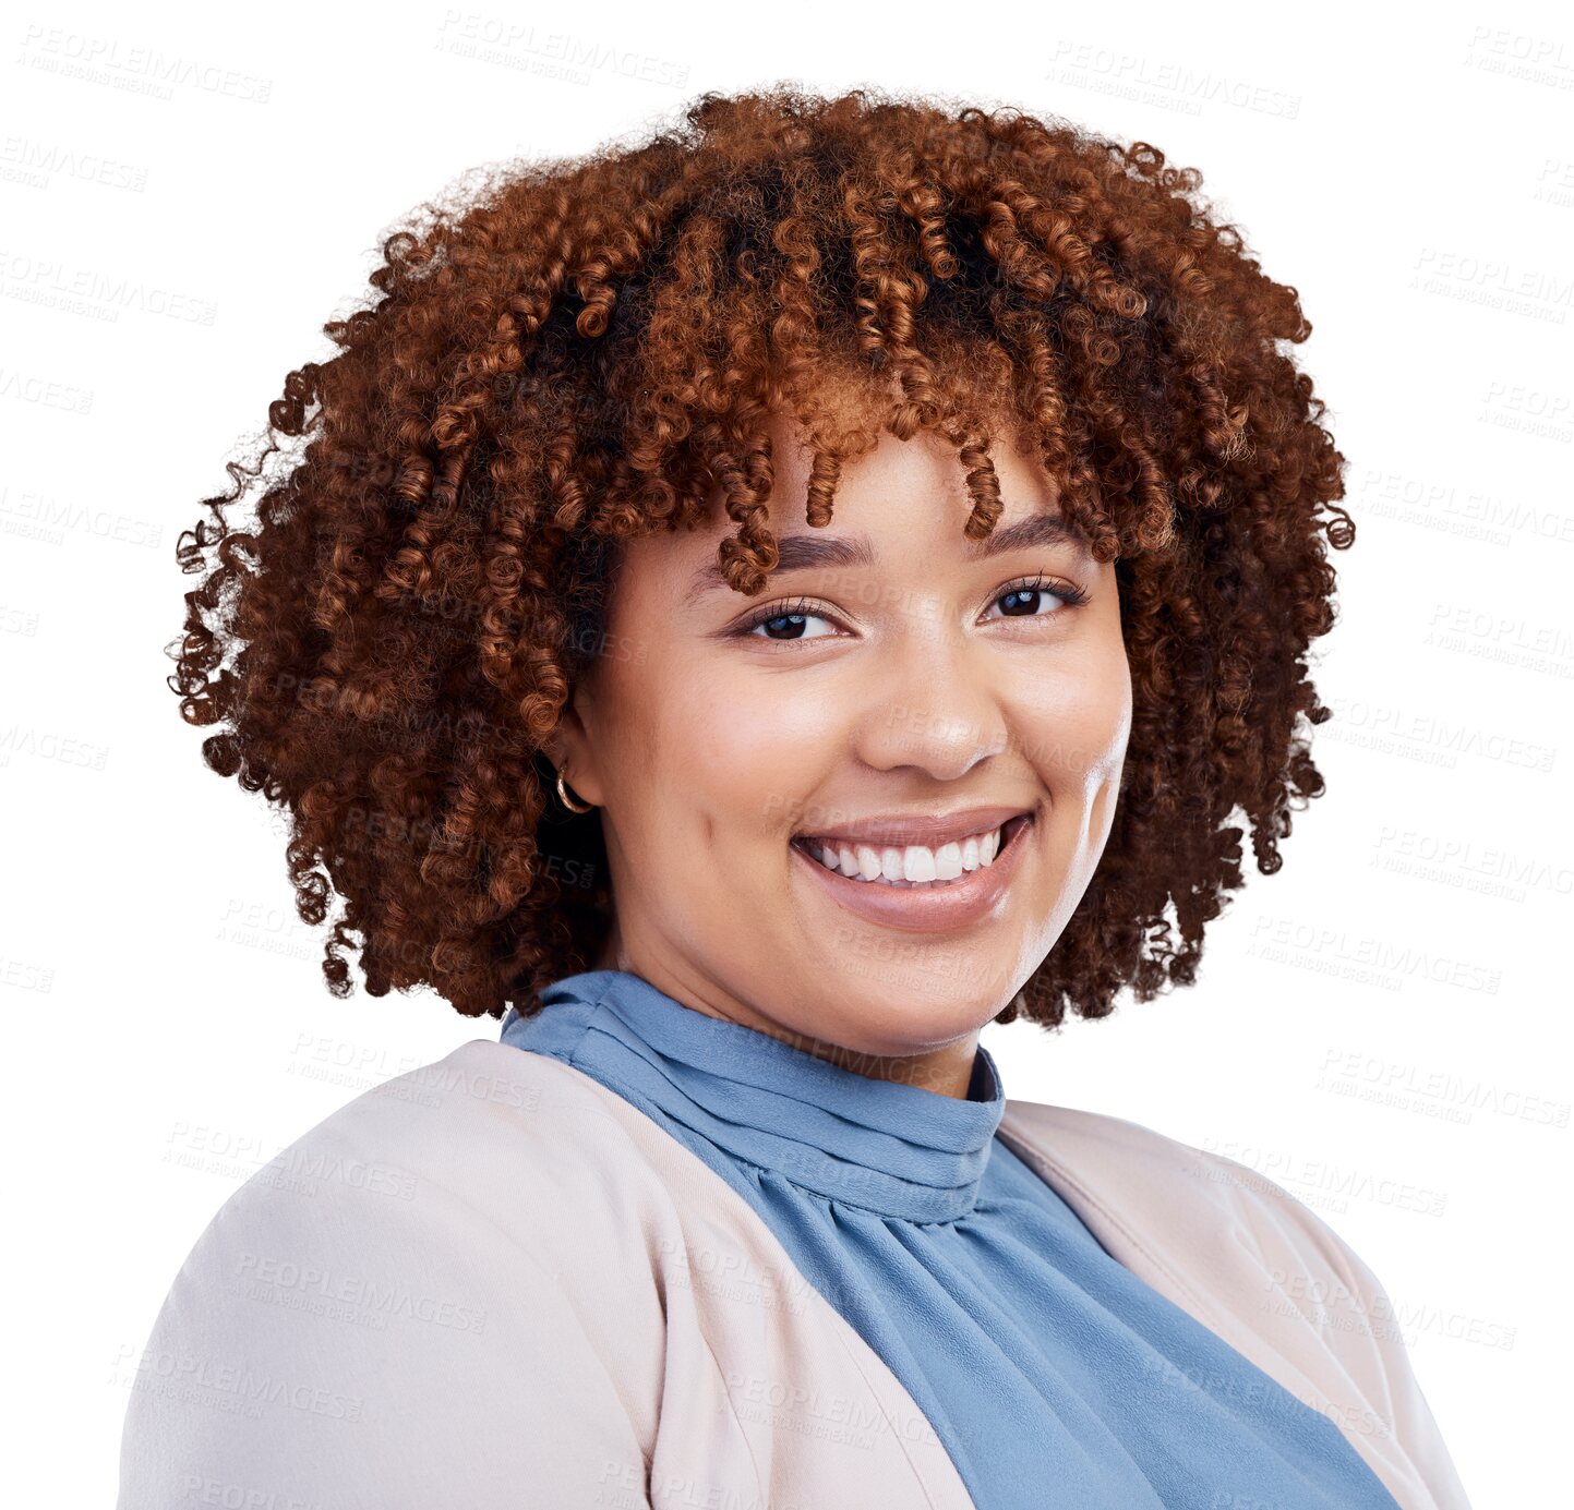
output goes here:
[{"label": "narrow visible strip of blazer sleeve on the picture's right", "polygon": [[1335,1282],[1324,1287],[1327,1293],[1308,1295],[1305,1302],[1322,1313],[1324,1329],[1336,1340],[1344,1367],[1391,1428],[1437,1510],[1470,1510],[1443,1434],[1421,1394],[1388,1291],[1355,1249],[1316,1211],[1272,1180],[1247,1173],[1258,1189],[1269,1192],[1281,1216],[1299,1227],[1303,1239],[1333,1271]]}]

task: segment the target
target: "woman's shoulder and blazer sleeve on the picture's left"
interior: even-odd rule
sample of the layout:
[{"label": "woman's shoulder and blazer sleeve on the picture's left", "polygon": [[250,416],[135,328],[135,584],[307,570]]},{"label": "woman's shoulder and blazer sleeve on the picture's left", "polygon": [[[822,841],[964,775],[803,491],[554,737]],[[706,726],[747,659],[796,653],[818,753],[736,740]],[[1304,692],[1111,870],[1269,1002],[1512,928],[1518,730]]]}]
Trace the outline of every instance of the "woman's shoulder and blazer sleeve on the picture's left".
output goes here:
[{"label": "woman's shoulder and blazer sleeve on the picture's left", "polygon": [[524,1482],[576,1505],[592,1464],[641,1485],[660,1296],[609,1213],[619,1181],[650,1192],[598,1090],[474,1040],[258,1170],[139,1359],[120,1510],[192,1483],[384,1510],[519,1505]]}]

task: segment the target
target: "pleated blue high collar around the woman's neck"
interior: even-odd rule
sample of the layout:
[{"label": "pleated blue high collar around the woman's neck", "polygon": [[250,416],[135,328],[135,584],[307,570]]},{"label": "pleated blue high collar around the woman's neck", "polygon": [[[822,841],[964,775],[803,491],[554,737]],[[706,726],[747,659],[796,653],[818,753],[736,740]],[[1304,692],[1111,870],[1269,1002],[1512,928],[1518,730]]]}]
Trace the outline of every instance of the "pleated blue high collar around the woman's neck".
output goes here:
[{"label": "pleated blue high collar around the woman's neck", "polygon": [[510,1007],[501,1038],[660,1107],[756,1169],[903,1221],[951,1222],[973,1210],[1006,1110],[982,1044],[960,1099],[708,1016],[628,970],[563,977],[534,1016]]}]

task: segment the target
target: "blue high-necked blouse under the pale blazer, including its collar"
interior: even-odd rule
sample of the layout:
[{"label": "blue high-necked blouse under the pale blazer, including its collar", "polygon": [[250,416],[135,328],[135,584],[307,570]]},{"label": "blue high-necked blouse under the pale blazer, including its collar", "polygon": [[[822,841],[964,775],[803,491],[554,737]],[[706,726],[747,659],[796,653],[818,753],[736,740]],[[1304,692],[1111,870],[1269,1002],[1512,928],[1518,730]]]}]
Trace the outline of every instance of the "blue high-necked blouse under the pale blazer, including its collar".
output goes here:
[{"label": "blue high-necked blouse under the pale blazer, including its collar", "polygon": [[615,1092],[748,1200],[907,1387],[974,1504],[1398,1510],[1335,1422],[1111,1258],[995,1136],[1006,1095],[982,1044],[960,1099],[626,970],[541,1000],[508,1010],[502,1041]]}]

